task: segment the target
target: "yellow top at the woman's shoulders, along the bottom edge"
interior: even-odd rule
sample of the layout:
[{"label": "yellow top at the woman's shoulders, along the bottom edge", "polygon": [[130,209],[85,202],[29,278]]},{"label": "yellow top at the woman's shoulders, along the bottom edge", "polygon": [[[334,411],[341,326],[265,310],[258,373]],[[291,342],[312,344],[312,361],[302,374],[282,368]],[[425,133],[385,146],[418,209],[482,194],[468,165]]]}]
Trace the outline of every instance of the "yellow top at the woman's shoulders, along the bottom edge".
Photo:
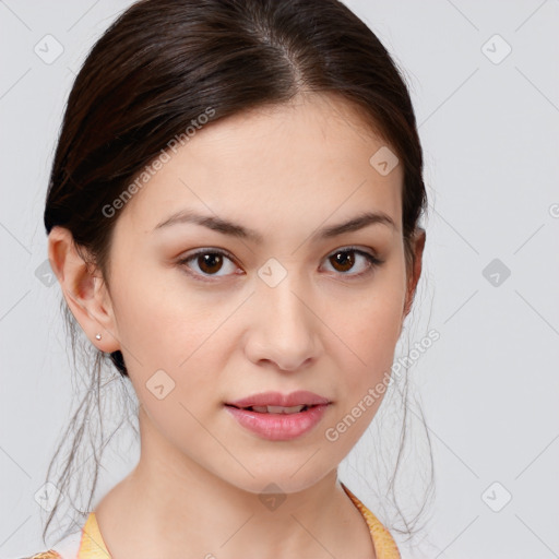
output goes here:
[{"label": "yellow top at the woman's shoulders, along the bottom edge", "polygon": [[[344,484],[341,485],[369,526],[377,559],[401,559],[390,532]],[[100,535],[95,513],[91,512],[82,530],[78,557],[62,557],[57,551],[50,550],[34,555],[29,559],[110,559],[110,554]]]}]

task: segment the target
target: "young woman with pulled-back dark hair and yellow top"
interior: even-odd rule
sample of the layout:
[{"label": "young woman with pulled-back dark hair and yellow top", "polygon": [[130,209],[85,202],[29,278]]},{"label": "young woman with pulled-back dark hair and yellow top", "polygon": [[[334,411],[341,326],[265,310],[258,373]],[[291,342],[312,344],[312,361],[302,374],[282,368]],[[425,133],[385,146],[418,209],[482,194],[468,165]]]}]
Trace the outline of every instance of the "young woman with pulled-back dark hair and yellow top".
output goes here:
[{"label": "young woman with pulled-back dark hair and yellow top", "polygon": [[141,457],[35,557],[400,557],[337,466],[412,308],[421,174],[407,88],[336,0],[124,12],[70,94],[45,226]]}]

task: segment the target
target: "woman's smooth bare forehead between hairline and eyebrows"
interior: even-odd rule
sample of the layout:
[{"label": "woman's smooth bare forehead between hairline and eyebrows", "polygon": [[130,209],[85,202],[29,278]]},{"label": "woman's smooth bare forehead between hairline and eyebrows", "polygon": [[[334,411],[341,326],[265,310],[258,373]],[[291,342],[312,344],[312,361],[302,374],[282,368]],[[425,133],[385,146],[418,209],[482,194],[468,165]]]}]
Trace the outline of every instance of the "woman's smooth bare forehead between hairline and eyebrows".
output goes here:
[{"label": "woman's smooth bare forehead between hairline and eyebrows", "polygon": [[266,226],[381,210],[401,228],[403,173],[370,158],[385,142],[335,96],[297,96],[197,130],[128,202],[120,227],[153,229],[182,207]]}]

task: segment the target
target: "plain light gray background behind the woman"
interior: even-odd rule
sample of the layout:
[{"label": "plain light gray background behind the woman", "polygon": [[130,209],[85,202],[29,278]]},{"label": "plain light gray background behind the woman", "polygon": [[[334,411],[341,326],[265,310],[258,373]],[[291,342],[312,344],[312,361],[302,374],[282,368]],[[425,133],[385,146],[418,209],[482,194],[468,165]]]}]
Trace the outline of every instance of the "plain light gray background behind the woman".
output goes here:
[{"label": "plain light gray background behind the woman", "polygon": [[[404,341],[440,333],[408,371],[437,489],[403,556],[559,557],[559,2],[346,3],[403,68],[426,157],[424,277]],[[44,547],[34,496],[76,389],[60,289],[41,267],[53,147],[81,62],[129,4],[0,1],[2,558]],[[63,48],[51,63],[48,34]],[[382,516],[368,435],[341,477]],[[107,457],[99,496],[138,457],[122,461],[122,448]]]}]

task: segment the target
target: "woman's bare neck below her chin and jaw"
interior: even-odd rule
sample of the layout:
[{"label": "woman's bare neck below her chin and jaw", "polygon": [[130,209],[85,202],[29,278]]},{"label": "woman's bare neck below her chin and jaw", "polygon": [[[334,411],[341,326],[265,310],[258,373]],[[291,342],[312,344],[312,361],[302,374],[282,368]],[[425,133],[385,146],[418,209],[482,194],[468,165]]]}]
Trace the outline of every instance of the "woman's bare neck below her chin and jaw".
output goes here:
[{"label": "woman's bare neck below her chin and jaw", "polygon": [[145,416],[141,435],[136,467],[95,511],[112,559],[374,557],[336,469],[287,495],[253,492],[170,448]]}]

